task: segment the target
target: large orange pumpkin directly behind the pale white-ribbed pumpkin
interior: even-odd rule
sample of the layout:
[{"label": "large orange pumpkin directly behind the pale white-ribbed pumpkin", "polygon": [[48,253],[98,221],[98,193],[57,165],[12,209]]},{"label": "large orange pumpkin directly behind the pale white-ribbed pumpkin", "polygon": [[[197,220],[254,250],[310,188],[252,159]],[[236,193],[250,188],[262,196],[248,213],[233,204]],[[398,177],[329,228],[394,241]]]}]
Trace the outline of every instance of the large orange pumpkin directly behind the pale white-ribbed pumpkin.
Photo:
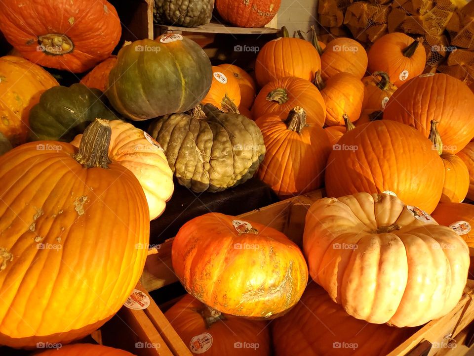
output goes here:
[{"label": "large orange pumpkin directly behind the pale white-ribbed pumpkin", "polygon": [[378,120],[344,134],[338,145],[326,167],[328,196],[390,190],[407,204],[428,213],[435,210],[443,190],[444,166],[430,140],[419,132]]}]

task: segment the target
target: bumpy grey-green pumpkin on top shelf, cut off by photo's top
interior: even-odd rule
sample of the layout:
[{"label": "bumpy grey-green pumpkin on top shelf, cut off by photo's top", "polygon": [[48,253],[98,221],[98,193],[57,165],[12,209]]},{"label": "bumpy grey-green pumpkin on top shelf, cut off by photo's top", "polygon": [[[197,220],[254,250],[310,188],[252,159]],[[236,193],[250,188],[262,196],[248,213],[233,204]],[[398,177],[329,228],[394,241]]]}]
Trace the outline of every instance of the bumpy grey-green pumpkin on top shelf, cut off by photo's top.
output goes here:
[{"label": "bumpy grey-green pumpkin on top shelf, cut off by photo's top", "polygon": [[214,0],[155,0],[157,24],[197,27],[212,18]]}]

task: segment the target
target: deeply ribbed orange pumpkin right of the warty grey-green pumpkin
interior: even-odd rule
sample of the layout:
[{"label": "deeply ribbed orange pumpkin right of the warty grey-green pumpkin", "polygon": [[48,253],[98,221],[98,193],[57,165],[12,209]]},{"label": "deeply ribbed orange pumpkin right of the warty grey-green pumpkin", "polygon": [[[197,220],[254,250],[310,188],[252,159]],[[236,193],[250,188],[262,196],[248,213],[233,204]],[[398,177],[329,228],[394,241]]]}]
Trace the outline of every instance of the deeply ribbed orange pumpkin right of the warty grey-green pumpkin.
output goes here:
[{"label": "deeply ribbed orange pumpkin right of the warty grey-green pumpkin", "polygon": [[290,112],[268,114],[256,121],[266,154],[258,177],[284,199],[324,185],[324,168],[331,151],[324,129],[306,124],[299,106]]}]

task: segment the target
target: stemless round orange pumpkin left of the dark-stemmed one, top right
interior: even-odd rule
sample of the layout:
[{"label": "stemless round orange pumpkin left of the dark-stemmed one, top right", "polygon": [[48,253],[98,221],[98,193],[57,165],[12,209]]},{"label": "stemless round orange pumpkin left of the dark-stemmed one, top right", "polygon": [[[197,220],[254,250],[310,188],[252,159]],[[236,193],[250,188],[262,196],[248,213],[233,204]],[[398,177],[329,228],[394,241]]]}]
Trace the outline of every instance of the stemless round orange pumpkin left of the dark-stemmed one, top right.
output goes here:
[{"label": "stemless round orange pumpkin left of the dark-stemmed one, top right", "polygon": [[327,80],[338,73],[350,73],[358,80],[367,70],[367,52],[357,41],[345,37],[330,41],[321,55],[321,76]]}]

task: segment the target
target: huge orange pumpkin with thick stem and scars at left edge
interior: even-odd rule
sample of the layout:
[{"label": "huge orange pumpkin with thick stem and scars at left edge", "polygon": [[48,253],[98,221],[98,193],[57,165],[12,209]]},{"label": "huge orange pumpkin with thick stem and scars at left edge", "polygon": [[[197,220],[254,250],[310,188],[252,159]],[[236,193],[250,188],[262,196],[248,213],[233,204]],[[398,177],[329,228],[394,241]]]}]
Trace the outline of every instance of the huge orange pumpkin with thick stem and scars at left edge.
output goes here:
[{"label": "huge orange pumpkin with thick stem and scars at left edge", "polygon": [[[84,150],[39,141],[0,157],[1,345],[84,337],[121,308],[140,278],[147,249],[136,245],[149,244],[148,205],[130,171],[102,168],[104,123],[86,130]],[[25,309],[31,300],[35,308]]]}]

